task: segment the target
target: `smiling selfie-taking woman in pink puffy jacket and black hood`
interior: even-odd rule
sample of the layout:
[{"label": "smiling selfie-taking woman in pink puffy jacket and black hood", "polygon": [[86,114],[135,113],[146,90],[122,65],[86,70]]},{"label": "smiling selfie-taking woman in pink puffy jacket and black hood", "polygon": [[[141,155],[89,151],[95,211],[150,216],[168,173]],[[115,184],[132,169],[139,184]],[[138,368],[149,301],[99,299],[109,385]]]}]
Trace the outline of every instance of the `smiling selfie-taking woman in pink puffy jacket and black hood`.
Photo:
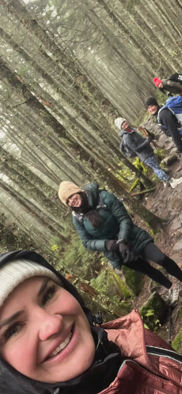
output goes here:
[{"label": "smiling selfie-taking woman in pink puffy jacket and black hood", "polygon": [[182,393],[182,356],[139,312],[96,327],[39,254],[0,255],[1,394]]}]

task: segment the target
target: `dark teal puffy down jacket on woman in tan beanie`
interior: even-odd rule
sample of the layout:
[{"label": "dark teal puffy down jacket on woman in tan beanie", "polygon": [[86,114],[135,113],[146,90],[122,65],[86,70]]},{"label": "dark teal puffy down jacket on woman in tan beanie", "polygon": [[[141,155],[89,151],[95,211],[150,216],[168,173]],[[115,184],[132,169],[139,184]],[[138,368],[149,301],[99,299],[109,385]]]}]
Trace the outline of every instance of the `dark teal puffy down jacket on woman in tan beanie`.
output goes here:
[{"label": "dark teal puffy down jacket on woman in tan beanie", "polygon": [[[89,206],[91,209],[97,206],[99,191],[98,184],[89,184],[82,190],[87,191]],[[114,268],[121,269],[123,264],[120,253],[109,252],[105,247],[106,240],[113,240],[118,234],[118,238],[124,238],[130,247],[130,261],[136,260],[141,251],[149,242],[153,242],[150,235],[140,227],[133,224],[132,219],[124,208],[122,201],[108,191],[101,191],[100,195],[106,205],[106,209],[99,209],[99,215],[102,217],[101,225],[93,227],[90,221],[84,216],[80,222],[74,216],[73,223],[82,240],[82,244],[89,250],[104,252],[104,255],[110,260]]]}]

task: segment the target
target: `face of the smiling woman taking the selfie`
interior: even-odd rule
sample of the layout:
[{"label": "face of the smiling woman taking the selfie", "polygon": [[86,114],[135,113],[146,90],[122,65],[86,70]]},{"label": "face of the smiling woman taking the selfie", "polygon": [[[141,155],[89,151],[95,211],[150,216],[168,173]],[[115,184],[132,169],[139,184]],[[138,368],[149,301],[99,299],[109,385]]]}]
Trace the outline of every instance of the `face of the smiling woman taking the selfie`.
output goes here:
[{"label": "face of the smiling woman taking the selfie", "polygon": [[56,383],[89,368],[95,343],[78,301],[39,276],[20,283],[0,308],[0,354],[21,374]]}]

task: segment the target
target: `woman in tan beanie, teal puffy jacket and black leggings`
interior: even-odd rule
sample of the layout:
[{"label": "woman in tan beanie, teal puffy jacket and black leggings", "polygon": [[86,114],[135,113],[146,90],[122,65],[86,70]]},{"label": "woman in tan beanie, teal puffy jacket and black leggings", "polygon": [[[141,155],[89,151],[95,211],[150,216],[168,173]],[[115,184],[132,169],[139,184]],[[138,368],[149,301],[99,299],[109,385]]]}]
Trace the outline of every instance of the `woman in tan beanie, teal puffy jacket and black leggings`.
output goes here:
[{"label": "woman in tan beanie, teal puffy jacket and black leggings", "polygon": [[98,184],[89,184],[80,189],[72,182],[61,182],[59,199],[71,207],[74,226],[89,250],[103,252],[114,268],[128,268],[148,275],[152,280],[170,289],[172,302],[178,298],[178,286],[167,279],[160,270],[145,260],[164,267],[182,282],[182,271],[178,265],[154,245],[150,235],[133,224],[121,200]]}]

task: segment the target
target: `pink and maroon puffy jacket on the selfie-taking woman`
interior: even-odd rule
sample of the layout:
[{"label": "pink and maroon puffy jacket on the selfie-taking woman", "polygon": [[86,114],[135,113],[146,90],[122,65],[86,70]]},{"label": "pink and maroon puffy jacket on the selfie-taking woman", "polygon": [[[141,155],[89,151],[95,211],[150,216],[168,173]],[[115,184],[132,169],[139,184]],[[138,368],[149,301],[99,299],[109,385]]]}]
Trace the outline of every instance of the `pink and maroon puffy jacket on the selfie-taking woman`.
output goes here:
[{"label": "pink and maroon puffy jacket on the selfie-taking woman", "polygon": [[144,328],[137,309],[102,328],[125,358],[102,394],[182,394],[182,356]]}]

